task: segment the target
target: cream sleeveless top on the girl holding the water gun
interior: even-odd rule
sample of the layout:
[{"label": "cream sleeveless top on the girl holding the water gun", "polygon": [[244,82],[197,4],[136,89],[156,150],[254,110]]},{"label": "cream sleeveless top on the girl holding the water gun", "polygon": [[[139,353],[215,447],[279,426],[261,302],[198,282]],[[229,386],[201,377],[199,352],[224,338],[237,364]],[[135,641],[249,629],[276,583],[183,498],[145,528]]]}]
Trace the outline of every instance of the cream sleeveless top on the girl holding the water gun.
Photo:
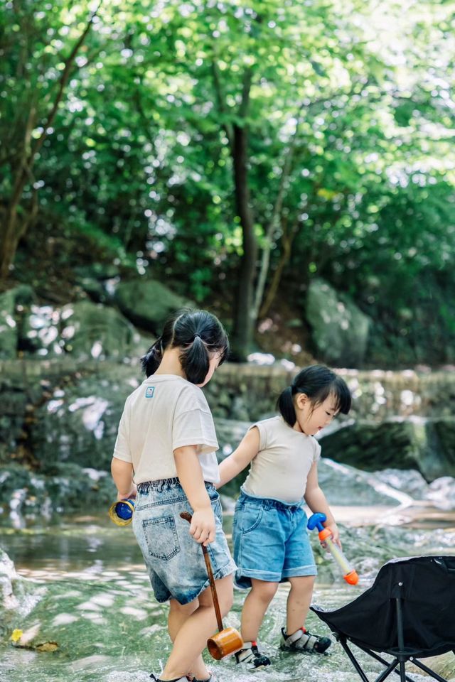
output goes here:
[{"label": "cream sleeveless top on the girl holding the water gun", "polygon": [[259,431],[259,452],[251,462],[242,489],[255,497],[299,502],[306,479],[321,456],[321,445],[284,421],[282,416],[253,424]]}]

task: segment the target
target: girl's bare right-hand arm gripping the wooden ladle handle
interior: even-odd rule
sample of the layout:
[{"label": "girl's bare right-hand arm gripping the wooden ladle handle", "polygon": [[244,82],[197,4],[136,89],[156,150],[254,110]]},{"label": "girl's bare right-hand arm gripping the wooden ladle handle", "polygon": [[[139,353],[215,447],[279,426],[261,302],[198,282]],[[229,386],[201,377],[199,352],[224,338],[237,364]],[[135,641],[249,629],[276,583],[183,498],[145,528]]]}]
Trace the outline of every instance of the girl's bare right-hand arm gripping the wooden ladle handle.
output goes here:
[{"label": "girl's bare right-hand arm gripping the wooden ladle handle", "polygon": [[190,534],[196,542],[207,546],[215,540],[215,515],[205,489],[204,477],[196,445],[185,445],[173,451],[178,480],[193,508]]}]

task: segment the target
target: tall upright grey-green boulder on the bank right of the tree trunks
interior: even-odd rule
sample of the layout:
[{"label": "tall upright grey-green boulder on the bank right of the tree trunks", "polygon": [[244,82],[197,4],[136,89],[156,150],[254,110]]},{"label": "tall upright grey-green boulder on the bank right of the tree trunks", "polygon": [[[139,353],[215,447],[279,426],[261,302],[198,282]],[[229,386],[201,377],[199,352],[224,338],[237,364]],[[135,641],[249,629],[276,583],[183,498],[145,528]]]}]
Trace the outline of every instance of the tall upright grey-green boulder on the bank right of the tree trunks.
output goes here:
[{"label": "tall upright grey-green boulder on the bank right of the tree trunks", "polygon": [[370,319],[327,282],[311,281],[306,295],[306,320],[316,354],[336,367],[362,364],[368,342]]}]

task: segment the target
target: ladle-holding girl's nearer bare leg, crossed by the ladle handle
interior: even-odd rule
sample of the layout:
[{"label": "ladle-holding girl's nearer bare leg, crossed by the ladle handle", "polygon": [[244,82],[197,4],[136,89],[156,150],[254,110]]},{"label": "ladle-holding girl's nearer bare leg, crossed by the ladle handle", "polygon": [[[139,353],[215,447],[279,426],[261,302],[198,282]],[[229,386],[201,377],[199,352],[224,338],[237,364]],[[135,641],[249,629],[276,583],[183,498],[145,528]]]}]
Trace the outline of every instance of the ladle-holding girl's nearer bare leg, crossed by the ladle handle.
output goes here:
[{"label": "ladle-holding girl's nearer bare leg, crossed by the ladle handle", "polygon": [[[232,575],[216,580],[221,615],[226,615],[232,606]],[[186,619],[176,633],[171,655],[161,673],[161,679],[175,680],[190,672],[199,660],[208,638],[216,632],[216,617],[210,588],[198,597],[199,605]],[[191,602],[193,603],[193,602]]]}]

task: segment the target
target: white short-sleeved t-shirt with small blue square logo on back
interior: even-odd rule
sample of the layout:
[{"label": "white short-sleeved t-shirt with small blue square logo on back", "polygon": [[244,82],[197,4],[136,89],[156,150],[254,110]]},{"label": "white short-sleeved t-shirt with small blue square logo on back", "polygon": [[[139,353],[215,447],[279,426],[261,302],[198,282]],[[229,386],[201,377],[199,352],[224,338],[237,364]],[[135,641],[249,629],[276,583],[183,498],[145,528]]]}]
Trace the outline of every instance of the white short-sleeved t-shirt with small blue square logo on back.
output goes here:
[{"label": "white short-sleeved t-shirt with small blue square logo on back", "polygon": [[132,463],[135,483],[174,478],[173,450],[184,445],[196,445],[204,480],[218,482],[218,442],[203,391],[183,377],[152,374],[125,402],[114,457]]}]

